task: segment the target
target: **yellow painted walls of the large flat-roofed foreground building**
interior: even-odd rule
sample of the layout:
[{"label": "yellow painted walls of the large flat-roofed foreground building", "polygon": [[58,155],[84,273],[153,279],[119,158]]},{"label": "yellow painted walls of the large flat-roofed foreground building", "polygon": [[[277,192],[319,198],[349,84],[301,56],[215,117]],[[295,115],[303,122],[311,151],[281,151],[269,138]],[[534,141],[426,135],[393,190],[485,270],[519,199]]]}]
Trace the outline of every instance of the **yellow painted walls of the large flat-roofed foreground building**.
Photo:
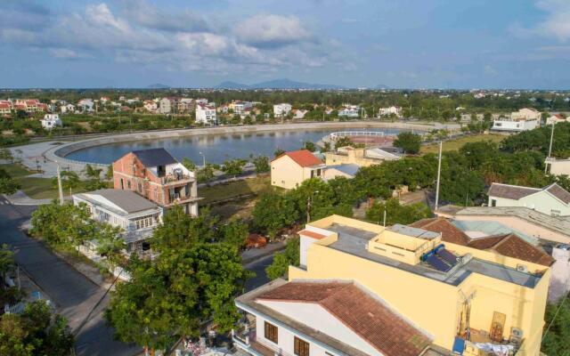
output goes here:
[{"label": "yellow painted walls of the large flat-roofed foreground building", "polygon": [[[310,225],[326,229],[330,223],[341,223],[367,231],[381,232],[383,227],[350,218],[330,216]],[[435,279],[375,263],[327,247],[338,237],[322,239],[308,249],[306,270],[289,267],[292,279],[352,279],[379,295],[397,312],[434,336],[434,344],[451,350],[453,338],[460,322],[464,298],[475,293],[471,302],[471,328],[489,331],[493,312],[507,315],[504,337],[510,328],[524,332],[520,355],[538,355],[544,323],[544,309],[550,281],[550,269],[510,257],[501,258],[487,251],[475,250],[446,243],[446,247],[459,255],[470,253],[494,263],[510,267],[526,264],[529,271],[544,271],[534,288],[517,286],[501,279],[471,273],[458,287]]]}]

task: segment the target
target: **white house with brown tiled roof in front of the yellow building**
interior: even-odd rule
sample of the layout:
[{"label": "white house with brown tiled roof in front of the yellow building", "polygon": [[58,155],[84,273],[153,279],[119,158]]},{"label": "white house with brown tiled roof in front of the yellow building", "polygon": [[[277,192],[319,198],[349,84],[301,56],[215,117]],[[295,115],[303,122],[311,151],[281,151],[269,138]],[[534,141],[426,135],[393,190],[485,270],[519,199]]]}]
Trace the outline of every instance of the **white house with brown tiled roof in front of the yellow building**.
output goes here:
[{"label": "white house with brown tiled roof in front of the yellow building", "polygon": [[424,330],[352,280],[275,279],[235,303],[243,318],[232,339],[248,355],[419,356],[430,344]]}]

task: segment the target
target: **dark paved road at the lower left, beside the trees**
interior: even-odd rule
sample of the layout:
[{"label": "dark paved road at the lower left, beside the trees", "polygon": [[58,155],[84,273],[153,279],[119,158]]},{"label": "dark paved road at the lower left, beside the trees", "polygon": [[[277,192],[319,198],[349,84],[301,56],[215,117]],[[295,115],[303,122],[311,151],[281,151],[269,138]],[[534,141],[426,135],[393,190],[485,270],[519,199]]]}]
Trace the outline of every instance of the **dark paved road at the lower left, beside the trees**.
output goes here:
[{"label": "dark paved road at the lower left, beside the trees", "polygon": [[[12,206],[0,196],[0,243],[7,243],[16,250],[16,262],[51,297],[58,312],[69,320],[69,326],[75,330],[105,290],[19,230],[20,224],[28,221],[35,209],[36,206]],[[102,319],[102,312],[108,303],[107,295],[77,335],[77,355],[130,356],[141,352],[135,345],[112,339],[113,331]]]}]

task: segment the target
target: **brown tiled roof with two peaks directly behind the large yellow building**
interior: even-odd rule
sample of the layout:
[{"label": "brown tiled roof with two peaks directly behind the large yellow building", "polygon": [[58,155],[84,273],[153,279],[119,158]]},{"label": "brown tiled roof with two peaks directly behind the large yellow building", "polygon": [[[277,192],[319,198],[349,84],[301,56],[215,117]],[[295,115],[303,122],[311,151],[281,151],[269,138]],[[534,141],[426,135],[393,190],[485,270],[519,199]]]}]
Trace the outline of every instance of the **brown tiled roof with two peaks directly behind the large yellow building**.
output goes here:
[{"label": "brown tiled roof with two peaks directly behind the large yellow building", "polygon": [[550,264],[554,263],[554,259],[544,252],[542,248],[529,244],[515,233],[471,239],[460,228],[442,217],[419,220],[416,223],[412,223],[411,226],[428,231],[441,232],[444,242],[472,247],[478,250],[492,250],[499,255],[545,266],[550,266]]}]

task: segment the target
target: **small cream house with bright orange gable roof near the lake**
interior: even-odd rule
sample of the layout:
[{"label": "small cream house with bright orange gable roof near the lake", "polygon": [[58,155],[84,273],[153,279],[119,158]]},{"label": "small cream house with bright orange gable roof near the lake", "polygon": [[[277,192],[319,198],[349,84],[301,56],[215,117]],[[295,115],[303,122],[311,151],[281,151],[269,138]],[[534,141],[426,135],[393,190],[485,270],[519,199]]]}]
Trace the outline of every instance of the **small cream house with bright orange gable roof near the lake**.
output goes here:
[{"label": "small cream house with bright orange gable roof near the lake", "polygon": [[271,183],[294,189],[310,178],[322,177],[325,165],[309,150],[292,150],[271,161]]}]

